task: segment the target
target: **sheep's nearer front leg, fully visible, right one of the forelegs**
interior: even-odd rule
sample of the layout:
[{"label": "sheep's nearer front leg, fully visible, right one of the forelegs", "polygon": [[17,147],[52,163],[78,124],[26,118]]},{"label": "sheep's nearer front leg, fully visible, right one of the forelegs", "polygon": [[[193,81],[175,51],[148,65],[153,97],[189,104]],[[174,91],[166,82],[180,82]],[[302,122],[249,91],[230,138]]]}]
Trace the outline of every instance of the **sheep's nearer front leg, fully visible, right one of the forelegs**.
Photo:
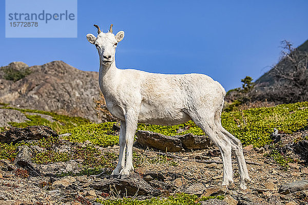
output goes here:
[{"label": "sheep's nearer front leg, fully visible, right one of the forelegs", "polygon": [[125,115],[126,122],[126,132],[125,132],[125,140],[126,140],[126,165],[121,170],[119,178],[126,178],[129,176],[129,173],[133,171],[132,166],[132,144],[133,137],[137,129],[138,123],[138,114],[134,110],[128,110]]}]

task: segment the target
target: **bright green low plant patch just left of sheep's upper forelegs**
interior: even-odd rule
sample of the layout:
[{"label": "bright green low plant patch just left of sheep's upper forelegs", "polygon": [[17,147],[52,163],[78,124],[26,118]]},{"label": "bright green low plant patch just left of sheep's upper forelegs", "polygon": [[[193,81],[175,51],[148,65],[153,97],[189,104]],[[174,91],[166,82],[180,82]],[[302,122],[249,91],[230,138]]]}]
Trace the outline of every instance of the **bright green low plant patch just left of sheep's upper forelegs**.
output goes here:
[{"label": "bright green low plant patch just left of sheep's upper forelegs", "polygon": [[84,142],[89,140],[93,145],[101,147],[119,145],[119,136],[115,136],[112,126],[115,122],[105,122],[103,124],[88,124],[75,127],[65,132],[71,133],[65,137],[70,141]]}]

